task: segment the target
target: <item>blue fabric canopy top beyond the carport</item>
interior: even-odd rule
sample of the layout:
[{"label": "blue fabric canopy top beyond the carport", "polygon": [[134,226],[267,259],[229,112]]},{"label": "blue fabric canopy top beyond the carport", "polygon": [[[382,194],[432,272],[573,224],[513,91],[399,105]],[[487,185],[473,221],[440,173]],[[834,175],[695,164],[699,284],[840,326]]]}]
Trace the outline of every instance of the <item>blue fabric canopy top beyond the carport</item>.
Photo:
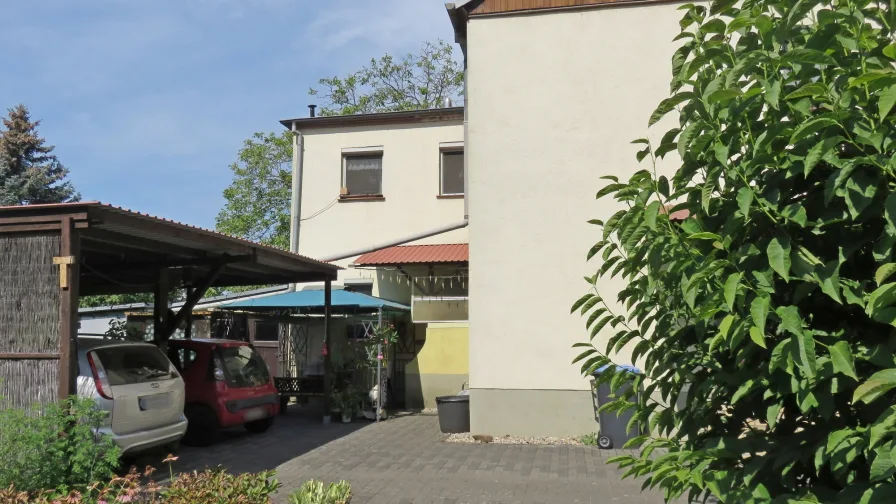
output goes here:
[{"label": "blue fabric canopy top beyond the carport", "polygon": [[[347,290],[333,290],[331,298],[331,306],[333,308],[354,308],[364,310],[391,309],[401,311],[411,311],[410,306],[388,301],[374,296],[368,296],[360,292],[352,292]],[[295,292],[284,292],[271,296],[264,296],[255,299],[246,299],[220,305],[219,308],[224,309],[283,309],[283,308],[299,308],[320,310],[324,307],[324,291],[323,290],[301,290]]]}]

